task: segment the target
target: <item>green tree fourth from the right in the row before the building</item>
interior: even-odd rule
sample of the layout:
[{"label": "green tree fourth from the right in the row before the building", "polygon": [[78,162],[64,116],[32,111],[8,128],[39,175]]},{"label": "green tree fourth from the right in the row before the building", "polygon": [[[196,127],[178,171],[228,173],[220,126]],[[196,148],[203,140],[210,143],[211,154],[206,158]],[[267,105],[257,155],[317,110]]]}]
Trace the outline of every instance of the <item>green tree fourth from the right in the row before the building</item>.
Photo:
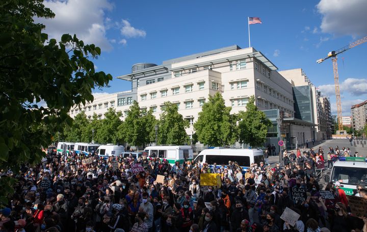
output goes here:
[{"label": "green tree fourth from the right in the row before the building", "polygon": [[138,102],[134,101],[127,112],[125,120],[118,127],[118,138],[132,145],[144,146],[154,141],[154,125],[156,122],[152,110],[142,111]]}]

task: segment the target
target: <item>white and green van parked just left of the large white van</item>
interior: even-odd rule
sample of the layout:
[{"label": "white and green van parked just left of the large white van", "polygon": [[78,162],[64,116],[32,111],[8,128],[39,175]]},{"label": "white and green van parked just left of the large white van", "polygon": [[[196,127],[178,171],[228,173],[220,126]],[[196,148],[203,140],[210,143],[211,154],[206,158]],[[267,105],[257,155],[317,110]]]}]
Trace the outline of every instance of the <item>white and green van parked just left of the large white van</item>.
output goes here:
[{"label": "white and green van parked just left of the large white van", "polygon": [[185,160],[193,159],[191,146],[149,146],[144,150],[147,152],[148,157],[166,159],[171,166],[173,166],[176,161],[182,164]]}]

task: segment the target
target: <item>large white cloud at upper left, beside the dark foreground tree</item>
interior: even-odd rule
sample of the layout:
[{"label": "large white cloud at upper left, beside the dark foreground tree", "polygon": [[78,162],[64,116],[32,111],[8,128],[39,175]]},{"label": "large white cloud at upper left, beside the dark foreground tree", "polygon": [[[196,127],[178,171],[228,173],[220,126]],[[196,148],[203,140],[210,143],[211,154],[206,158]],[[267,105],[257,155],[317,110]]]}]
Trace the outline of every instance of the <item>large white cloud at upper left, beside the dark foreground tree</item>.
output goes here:
[{"label": "large white cloud at upper left, beside the dark foreground tree", "polygon": [[113,8],[109,0],[46,0],[43,4],[55,13],[55,18],[35,20],[46,25],[49,39],[60,41],[63,34],[76,34],[85,43],[112,49],[106,36],[106,23],[111,19],[104,18],[104,12]]}]

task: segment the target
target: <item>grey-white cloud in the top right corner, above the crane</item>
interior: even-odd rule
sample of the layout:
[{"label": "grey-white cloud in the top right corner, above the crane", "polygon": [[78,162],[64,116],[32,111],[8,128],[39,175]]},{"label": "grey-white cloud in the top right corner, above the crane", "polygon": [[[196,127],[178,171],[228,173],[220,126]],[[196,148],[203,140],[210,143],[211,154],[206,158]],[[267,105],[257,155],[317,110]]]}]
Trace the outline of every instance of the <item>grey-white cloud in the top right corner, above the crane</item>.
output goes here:
[{"label": "grey-white cloud in the top right corner, above the crane", "polygon": [[322,15],[324,33],[362,36],[367,32],[367,1],[321,0],[316,6]]}]

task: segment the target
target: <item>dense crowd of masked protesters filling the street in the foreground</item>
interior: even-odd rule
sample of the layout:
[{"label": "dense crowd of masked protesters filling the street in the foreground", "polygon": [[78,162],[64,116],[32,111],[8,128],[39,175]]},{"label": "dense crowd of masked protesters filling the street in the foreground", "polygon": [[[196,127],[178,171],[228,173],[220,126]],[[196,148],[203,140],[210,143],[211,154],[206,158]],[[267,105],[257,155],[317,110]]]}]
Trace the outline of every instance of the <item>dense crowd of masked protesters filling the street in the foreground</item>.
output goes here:
[{"label": "dense crowd of masked protesters filling the street in the foreground", "polygon": [[[266,150],[265,156],[273,154]],[[367,218],[351,214],[340,183],[326,183],[334,199],[323,199],[316,170],[332,167],[338,156],[358,156],[349,149],[312,148],[283,153],[275,167],[235,162],[172,164],[165,159],[48,152],[37,166],[24,164],[15,194],[0,210],[0,231],[364,231]],[[83,160],[92,158],[91,163]],[[325,158],[325,160],[324,160]],[[113,163],[118,162],[118,168]],[[133,164],[144,171],[134,173]],[[218,173],[220,185],[203,186],[200,175]],[[158,183],[157,176],[163,175]],[[324,180],[320,180],[323,182]],[[295,201],[291,188],[303,188],[305,201]],[[358,186],[359,197],[367,190]],[[280,216],[289,208],[300,215],[292,226]]]}]

